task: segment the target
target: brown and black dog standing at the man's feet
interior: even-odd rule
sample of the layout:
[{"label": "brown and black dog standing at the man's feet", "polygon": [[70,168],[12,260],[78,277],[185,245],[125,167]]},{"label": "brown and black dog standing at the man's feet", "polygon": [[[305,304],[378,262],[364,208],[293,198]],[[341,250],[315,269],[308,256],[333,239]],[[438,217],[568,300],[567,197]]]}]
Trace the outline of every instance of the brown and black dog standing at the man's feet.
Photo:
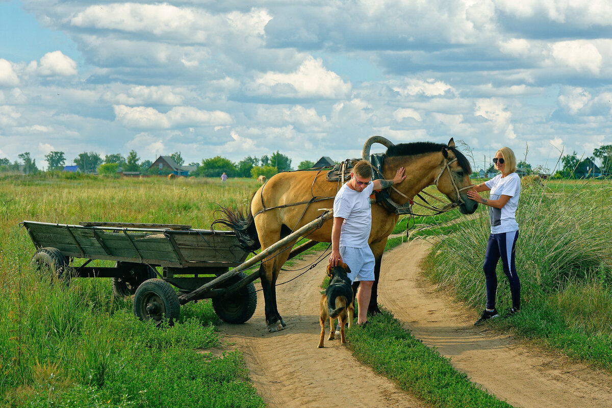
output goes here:
[{"label": "brown and black dog standing at the man's feet", "polygon": [[330,277],[329,286],[325,289],[325,294],[321,295],[321,314],[319,315],[319,323],[321,323],[321,338],[319,339],[319,348],[323,347],[323,338],[325,337],[325,322],[329,319],[329,338],[333,340],[335,335],[334,321],[338,318],[340,324],[340,343],[345,343],[345,324],[348,319],[348,327],[353,326],[353,287],[351,280],[346,276],[351,273],[348,265],[343,262],[338,262],[338,266],[327,265],[327,276]]}]

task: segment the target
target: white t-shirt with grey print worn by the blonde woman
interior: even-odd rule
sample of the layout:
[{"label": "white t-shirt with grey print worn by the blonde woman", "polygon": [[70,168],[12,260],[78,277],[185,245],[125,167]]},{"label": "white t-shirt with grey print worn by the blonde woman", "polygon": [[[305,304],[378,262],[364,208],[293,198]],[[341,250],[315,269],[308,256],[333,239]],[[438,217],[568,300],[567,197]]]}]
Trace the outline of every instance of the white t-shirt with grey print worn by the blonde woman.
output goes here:
[{"label": "white t-shirt with grey print worn by the blonde woman", "polygon": [[506,177],[501,174],[485,182],[491,189],[489,199],[496,200],[500,196],[510,196],[510,199],[501,209],[490,207],[491,234],[501,234],[502,232],[518,231],[516,212],[518,198],[521,194],[521,179],[518,174],[512,172]]}]

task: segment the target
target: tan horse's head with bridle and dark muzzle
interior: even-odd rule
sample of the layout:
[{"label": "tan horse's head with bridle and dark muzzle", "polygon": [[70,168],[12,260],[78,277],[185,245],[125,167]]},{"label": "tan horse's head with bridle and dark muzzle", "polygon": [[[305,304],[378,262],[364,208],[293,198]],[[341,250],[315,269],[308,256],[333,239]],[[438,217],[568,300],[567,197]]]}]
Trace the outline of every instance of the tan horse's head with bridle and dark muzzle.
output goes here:
[{"label": "tan horse's head with bridle and dark muzzle", "polygon": [[458,204],[462,214],[474,213],[478,203],[466,194],[473,187],[469,179],[472,168],[468,159],[455,148],[455,141],[450,139],[447,147],[442,148],[442,160],[439,173],[434,184],[438,190],[446,195],[450,201]]}]

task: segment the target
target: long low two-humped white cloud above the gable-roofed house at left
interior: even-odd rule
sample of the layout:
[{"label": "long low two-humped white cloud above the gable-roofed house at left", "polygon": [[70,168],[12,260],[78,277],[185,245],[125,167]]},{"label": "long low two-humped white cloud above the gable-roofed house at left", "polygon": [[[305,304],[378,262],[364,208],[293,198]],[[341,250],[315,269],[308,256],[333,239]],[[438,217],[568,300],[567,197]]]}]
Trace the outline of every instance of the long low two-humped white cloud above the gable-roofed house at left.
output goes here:
[{"label": "long low two-humped white cloud above the gable-roofed house at left", "polygon": [[119,122],[130,128],[176,128],[218,126],[231,124],[231,116],[222,111],[204,111],[192,106],[177,106],[168,113],[160,113],[146,106],[113,106]]}]

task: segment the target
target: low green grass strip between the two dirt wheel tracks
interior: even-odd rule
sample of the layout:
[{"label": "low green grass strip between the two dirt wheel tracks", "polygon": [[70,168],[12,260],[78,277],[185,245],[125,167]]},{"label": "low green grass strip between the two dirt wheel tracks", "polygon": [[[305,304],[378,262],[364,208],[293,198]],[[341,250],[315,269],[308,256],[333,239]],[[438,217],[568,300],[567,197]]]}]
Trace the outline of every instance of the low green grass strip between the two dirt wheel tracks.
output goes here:
[{"label": "low green grass strip between the two dirt wheel tracks", "polygon": [[348,348],[359,362],[421,401],[444,408],[510,407],[472,384],[448,358],[414,338],[388,311],[368,321],[365,328],[348,330]]}]

